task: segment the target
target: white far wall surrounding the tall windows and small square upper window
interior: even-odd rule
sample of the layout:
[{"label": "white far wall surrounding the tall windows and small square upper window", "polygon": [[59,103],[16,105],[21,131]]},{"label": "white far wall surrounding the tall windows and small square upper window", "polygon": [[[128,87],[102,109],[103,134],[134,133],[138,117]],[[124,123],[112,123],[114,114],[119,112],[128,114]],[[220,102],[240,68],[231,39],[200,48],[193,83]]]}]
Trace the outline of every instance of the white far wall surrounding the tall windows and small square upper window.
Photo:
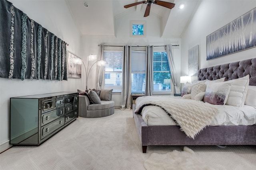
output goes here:
[{"label": "white far wall surrounding the tall windows and small square upper window", "polygon": [[[138,18],[138,16],[141,16]],[[146,45],[168,45],[179,44],[179,38],[161,38],[162,35],[162,20],[154,14],[144,18],[144,11],[138,12],[131,11],[122,16],[115,18],[116,37],[96,37],[86,36],[82,37],[82,59],[87,63],[87,56],[90,54],[98,54],[98,44],[104,43],[105,45],[132,45],[132,46],[146,46]],[[146,21],[146,37],[134,38],[130,37],[130,20]],[[181,46],[180,46],[181,47]],[[176,71],[178,77],[180,76],[180,47],[174,49],[174,62],[176,64]],[[94,69],[93,69],[94,68]],[[88,88],[96,88],[96,67],[94,66],[88,78]],[[84,68],[82,69],[84,71]],[[83,73],[82,71],[82,73]],[[114,94],[112,100],[115,101],[115,106],[120,106],[120,94]]]}]

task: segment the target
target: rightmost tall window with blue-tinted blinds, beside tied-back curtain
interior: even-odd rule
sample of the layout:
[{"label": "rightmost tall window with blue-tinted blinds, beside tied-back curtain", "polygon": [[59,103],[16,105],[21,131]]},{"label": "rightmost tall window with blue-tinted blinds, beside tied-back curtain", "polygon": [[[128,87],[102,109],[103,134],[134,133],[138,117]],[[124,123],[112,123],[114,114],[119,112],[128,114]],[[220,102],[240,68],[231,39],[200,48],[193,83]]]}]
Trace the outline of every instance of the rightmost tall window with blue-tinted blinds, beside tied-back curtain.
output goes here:
[{"label": "rightmost tall window with blue-tinted blinds, beside tied-back curtain", "polygon": [[153,93],[171,92],[171,73],[165,50],[154,50],[153,72]]}]

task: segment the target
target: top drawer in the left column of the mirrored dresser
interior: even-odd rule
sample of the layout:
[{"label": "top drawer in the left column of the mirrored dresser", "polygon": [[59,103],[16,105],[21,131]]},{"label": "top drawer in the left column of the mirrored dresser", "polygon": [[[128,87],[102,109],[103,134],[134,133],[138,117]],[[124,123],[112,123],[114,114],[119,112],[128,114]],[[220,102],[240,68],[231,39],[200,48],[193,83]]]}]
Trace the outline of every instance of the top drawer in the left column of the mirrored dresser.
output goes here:
[{"label": "top drawer in the left column of the mirrored dresser", "polygon": [[43,111],[49,111],[51,109],[56,109],[57,107],[62,106],[64,106],[64,98],[55,98],[42,101]]}]

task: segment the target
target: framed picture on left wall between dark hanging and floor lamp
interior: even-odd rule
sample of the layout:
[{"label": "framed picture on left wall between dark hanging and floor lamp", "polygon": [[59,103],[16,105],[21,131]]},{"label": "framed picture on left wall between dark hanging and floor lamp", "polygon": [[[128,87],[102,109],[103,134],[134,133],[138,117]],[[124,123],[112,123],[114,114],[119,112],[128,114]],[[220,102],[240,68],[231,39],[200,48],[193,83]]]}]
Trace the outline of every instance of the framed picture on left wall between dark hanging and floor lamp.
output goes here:
[{"label": "framed picture on left wall between dark hanging and floor lamp", "polygon": [[68,51],[68,78],[81,78],[82,59]]}]

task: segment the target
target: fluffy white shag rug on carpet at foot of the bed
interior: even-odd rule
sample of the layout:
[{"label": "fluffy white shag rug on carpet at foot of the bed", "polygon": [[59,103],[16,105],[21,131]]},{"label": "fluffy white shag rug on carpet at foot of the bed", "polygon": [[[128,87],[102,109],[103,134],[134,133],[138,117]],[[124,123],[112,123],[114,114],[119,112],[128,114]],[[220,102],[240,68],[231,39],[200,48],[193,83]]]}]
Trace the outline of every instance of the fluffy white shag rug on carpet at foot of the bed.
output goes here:
[{"label": "fluffy white shag rug on carpet at foot of the bed", "polygon": [[232,152],[228,155],[219,152],[200,155],[188,147],[184,147],[181,152],[174,150],[166,154],[152,153],[145,160],[144,167],[147,170],[255,170],[256,168],[246,159]]}]

